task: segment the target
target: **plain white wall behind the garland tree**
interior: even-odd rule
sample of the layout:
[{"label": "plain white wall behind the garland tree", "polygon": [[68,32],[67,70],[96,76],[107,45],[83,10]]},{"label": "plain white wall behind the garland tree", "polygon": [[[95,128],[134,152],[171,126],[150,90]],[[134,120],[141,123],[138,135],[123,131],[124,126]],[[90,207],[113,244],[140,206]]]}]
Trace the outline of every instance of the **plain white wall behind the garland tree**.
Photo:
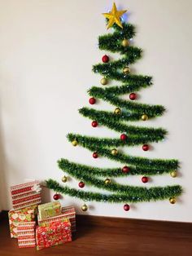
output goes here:
[{"label": "plain white wall behind the garland tree", "polygon": [[[91,152],[73,148],[65,137],[68,132],[119,136],[103,127],[92,128],[90,121],[77,112],[89,106],[86,90],[99,86],[100,76],[91,68],[106,53],[98,51],[97,38],[107,33],[101,13],[111,4],[107,0],[0,2],[2,209],[11,207],[9,187],[13,184],[26,179],[60,181],[63,172],[56,163],[60,157],[93,166],[120,166],[104,158],[95,161]],[[155,176],[147,186],[179,183],[185,193],[176,205],[168,201],[139,203],[129,212],[124,212],[123,204],[87,202],[86,214],[191,222],[192,2],[121,0],[116,4],[129,9],[129,20],[137,26],[134,45],[144,50],[134,68],[137,73],[154,77],[154,86],[140,91],[139,101],[163,104],[168,109],[164,117],[145,123],[166,128],[168,139],[154,143],[151,152],[142,152],[140,147],[127,152],[180,159],[178,178]],[[94,108],[114,109],[103,102]],[[138,176],[119,180],[144,185]],[[77,188],[77,183],[71,179],[68,185]],[[96,191],[88,186],[85,189]],[[46,192],[46,200],[52,195]],[[80,208],[83,202],[64,196],[63,204]]]}]

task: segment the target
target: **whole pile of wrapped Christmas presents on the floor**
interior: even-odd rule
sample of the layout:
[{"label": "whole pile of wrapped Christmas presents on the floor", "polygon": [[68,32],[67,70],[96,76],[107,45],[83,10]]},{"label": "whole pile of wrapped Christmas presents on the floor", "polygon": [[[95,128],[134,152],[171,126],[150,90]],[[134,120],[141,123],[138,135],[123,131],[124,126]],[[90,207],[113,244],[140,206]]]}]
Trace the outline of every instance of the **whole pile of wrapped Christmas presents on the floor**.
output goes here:
[{"label": "whole pile of wrapped Christmas presents on the floor", "polygon": [[72,232],[76,231],[74,207],[61,207],[59,201],[41,204],[38,181],[11,187],[11,198],[11,238],[18,239],[20,248],[44,249],[72,241]]}]

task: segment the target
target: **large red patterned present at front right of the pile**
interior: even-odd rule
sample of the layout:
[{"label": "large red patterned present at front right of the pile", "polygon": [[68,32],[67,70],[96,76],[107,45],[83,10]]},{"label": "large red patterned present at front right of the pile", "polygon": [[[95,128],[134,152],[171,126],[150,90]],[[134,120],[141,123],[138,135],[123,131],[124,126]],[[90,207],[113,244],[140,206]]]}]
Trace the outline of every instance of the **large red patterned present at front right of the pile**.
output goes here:
[{"label": "large red patterned present at front right of the pile", "polygon": [[62,245],[70,241],[72,241],[72,232],[69,221],[57,221],[49,223],[47,227],[37,226],[36,228],[37,250]]}]

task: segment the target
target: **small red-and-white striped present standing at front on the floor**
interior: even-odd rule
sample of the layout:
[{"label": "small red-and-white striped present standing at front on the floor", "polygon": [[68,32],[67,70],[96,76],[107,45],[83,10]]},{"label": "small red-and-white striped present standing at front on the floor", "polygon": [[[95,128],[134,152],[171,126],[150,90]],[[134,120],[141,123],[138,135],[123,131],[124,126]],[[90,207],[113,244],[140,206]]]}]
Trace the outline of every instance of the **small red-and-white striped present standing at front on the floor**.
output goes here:
[{"label": "small red-and-white striped present standing at front on the floor", "polygon": [[17,235],[20,248],[36,247],[35,221],[19,223],[17,227]]}]

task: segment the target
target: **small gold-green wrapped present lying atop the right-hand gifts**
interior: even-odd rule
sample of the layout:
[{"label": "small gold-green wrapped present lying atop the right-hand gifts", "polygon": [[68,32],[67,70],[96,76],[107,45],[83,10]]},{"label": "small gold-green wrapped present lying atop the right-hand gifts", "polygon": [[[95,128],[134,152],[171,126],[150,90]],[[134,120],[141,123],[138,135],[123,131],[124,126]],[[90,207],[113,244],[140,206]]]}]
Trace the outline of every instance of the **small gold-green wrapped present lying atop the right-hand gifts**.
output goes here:
[{"label": "small gold-green wrapped present lying atop the right-hand gifts", "polygon": [[59,201],[38,205],[39,219],[46,219],[61,214],[61,204]]}]

